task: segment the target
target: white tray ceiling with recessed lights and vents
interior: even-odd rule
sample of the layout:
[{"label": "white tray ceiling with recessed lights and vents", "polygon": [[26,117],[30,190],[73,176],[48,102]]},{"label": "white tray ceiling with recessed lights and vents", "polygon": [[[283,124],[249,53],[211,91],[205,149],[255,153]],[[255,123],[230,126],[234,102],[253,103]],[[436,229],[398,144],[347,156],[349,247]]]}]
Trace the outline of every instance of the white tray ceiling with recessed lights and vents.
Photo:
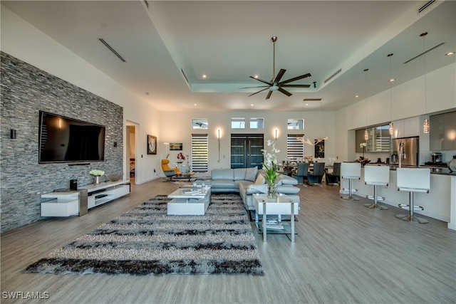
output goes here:
[{"label": "white tray ceiling with recessed lights and vents", "polygon": [[[455,62],[456,1],[1,1],[161,111],[336,110]],[[425,38],[420,33],[428,32]],[[250,75],[293,84],[290,97]],[[103,46],[103,38],[127,61]],[[445,42],[426,56],[404,64]],[[394,53],[390,58],[388,53]],[[391,61],[391,63],[390,63]],[[368,68],[367,74],[363,72]],[[333,73],[341,73],[327,80]],[[188,85],[181,73],[185,73]],[[202,78],[202,75],[207,78]],[[313,83],[316,82],[316,88]],[[424,90],[423,90],[424,93]],[[355,98],[360,95],[360,98]],[[195,105],[196,104],[196,105]]]}]

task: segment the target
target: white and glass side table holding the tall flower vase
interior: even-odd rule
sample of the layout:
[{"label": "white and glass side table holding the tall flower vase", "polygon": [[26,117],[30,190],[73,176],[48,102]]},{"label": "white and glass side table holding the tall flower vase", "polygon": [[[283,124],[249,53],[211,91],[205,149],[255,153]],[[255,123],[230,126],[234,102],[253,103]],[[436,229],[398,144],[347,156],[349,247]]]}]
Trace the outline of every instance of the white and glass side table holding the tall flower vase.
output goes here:
[{"label": "white and glass side table holding the tall flower vase", "polygon": [[[255,212],[256,212],[256,224],[258,228],[262,229],[263,232],[263,241],[266,242],[266,234],[267,231],[276,231],[280,234],[291,234],[291,241],[294,242],[294,216],[298,214],[299,205],[298,203],[291,200],[285,194],[279,194],[277,199],[268,199],[266,194],[254,194],[252,195],[253,202],[255,205]],[[257,214],[263,214],[263,221],[261,227],[258,223]],[[274,229],[274,226],[267,226],[266,215],[268,214],[277,214],[277,215],[291,215],[291,230],[288,230],[285,225],[283,225],[283,229],[277,230]],[[285,223],[283,223],[285,224]],[[266,227],[266,229],[264,229]]]}]

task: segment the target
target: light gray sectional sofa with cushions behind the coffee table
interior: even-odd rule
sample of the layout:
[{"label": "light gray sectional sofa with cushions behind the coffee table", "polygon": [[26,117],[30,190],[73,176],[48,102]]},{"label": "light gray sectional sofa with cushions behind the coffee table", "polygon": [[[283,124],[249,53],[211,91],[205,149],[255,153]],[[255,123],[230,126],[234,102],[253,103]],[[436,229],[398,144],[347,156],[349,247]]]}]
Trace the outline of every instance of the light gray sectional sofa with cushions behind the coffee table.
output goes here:
[{"label": "light gray sectional sofa with cushions behind the coffee table", "polygon": [[[199,181],[201,184],[210,184],[212,193],[237,192],[241,195],[245,209],[254,210],[252,194],[266,193],[267,185],[263,177],[263,170],[254,168],[237,169],[213,169],[211,179]],[[286,194],[293,201],[299,203],[298,192],[301,190],[294,187],[298,181],[292,177],[281,174],[279,177],[277,190],[281,194]]]}]

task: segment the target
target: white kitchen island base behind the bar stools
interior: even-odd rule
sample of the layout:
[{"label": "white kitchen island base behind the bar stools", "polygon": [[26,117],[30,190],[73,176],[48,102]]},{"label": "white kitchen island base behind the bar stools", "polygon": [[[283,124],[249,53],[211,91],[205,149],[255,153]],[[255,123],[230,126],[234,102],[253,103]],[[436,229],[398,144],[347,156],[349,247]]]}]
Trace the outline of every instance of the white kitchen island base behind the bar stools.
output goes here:
[{"label": "white kitchen island base behind the bar stools", "polygon": [[[380,204],[398,206],[408,204],[408,193],[400,192],[396,187],[395,167],[390,167],[390,183],[388,187],[378,187],[378,196],[384,196],[385,200]],[[353,180],[355,195],[366,197],[373,194],[373,186],[364,183],[364,169],[361,168],[361,179]],[[348,179],[341,179],[341,194],[347,194]],[[415,206],[422,206],[424,210],[415,210],[414,213],[429,216],[448,223],[448,228],[456,230],[456,172],[450,172],[447,168],[432,168],[430,174],[430,192],[427,194],[415,194]]]}]

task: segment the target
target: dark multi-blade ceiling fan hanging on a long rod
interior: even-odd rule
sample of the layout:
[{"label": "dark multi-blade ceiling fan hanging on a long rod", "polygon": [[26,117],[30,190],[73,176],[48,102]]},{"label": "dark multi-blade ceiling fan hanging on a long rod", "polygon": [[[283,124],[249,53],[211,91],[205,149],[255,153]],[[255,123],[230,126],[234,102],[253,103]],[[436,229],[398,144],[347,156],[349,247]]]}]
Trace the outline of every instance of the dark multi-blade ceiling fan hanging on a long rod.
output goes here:
[{"label": "dark multi-blade ceiling fan hanging on a long rod", "polygon": [[[273,78],[271,81],[266,81],[266,80],[262,80],[260,78],[256,78],[254,76],[250,76],[250,78],[261,81],[261,83],[265,83],[266,85],[261,85],[259,87],[249,87],[249,88],[264,88],[262,90],[259,90],[256,93],[249,95],[249,97],[252,95],[261,93],[264,90],[269,90],[268,95],[266,95],[266,99],[269,99],[271,97],[272,92],[274,92],[276,90],[278,90],[281,93],[284,93],[287,96],[291,96],[292,94],[289,93],[289,91],[285,90],[284,88],[309,88],[310,85],[289,85],[287,83],[291,83],[293,81],[300,80],[303,78],[309,78],[309,77],[311,77],[310,73],[307,73],[307,74],[304,74],[304,75],[301,75],[301,76],[298,76],[295,78],[290,78],[288,80],[280,81],[286,71],[283,68],[281,68],[279,70],[279,73],[277,73],[276,77],[274,78],[274,75],[276,74],[276,41],[277,41],[277,37],[276,36],[272,37],[271,41],[274,44],[273,67],[272,67],[272,77]],[[247,89],[247,88],[242,88],[242,89]]]}]

